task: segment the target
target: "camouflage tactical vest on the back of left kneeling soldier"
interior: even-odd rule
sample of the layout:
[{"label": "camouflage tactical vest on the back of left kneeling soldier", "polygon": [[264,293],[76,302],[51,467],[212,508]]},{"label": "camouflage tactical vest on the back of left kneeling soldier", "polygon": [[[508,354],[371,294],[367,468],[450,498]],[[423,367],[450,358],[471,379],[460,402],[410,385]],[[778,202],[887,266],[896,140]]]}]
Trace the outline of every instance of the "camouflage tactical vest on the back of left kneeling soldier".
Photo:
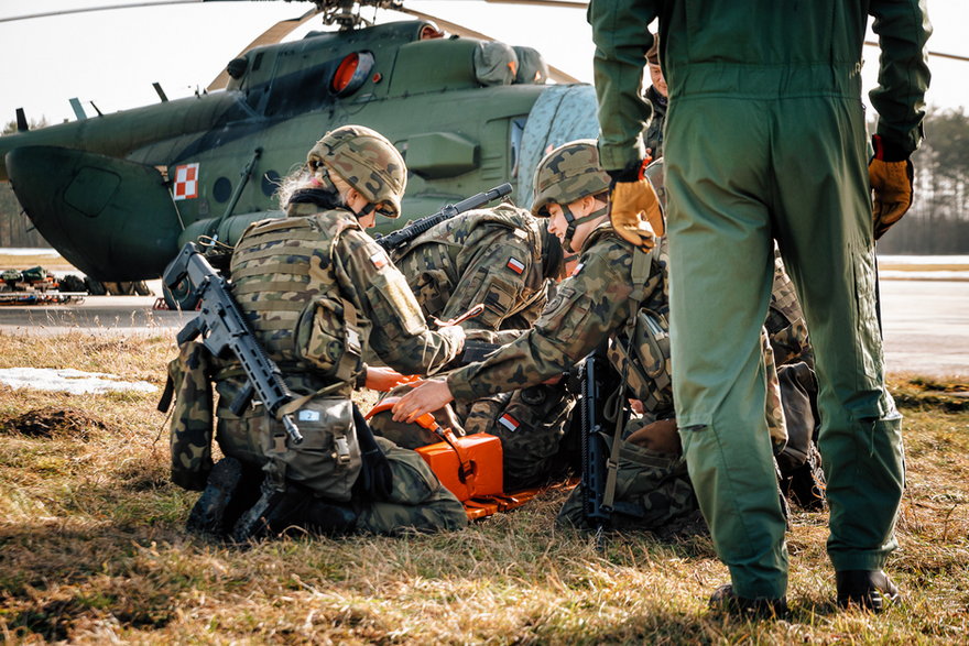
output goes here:
[{"label": "camouflage tactical vest on the back of left kneeling soldier", "polygon": [[347,211],[314,205],[293,205],[290,215],[296,217],[255,222],[242,234],[232,295],[284,374],[351,383],[363,370],[368,330],[340,294],[334,251],[344,231],[360,226]]}]

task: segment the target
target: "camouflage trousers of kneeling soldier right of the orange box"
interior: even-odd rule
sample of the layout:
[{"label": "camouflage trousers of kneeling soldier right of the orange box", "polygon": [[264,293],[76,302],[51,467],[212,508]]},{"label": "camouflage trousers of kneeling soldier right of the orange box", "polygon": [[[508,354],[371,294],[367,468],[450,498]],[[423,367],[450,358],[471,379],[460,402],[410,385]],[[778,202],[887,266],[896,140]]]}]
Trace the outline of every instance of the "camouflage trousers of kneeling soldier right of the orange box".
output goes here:
[{"label": "camouflage trousers of kneeling soldier right of the orange box", "polygon": [[[634,419],[625,437],[644,425]],[[609,445],[612,438],[607,437]],[[609,528],[645,529],[662,537],[705,532],[686,462],[676,453],[661,453],[622,441],[616,483],[617,503],[631,504],[634,515],[613,513]],[[556,519],[558,524],[589,528],[584,510],[583,485],[573,490]]]}]

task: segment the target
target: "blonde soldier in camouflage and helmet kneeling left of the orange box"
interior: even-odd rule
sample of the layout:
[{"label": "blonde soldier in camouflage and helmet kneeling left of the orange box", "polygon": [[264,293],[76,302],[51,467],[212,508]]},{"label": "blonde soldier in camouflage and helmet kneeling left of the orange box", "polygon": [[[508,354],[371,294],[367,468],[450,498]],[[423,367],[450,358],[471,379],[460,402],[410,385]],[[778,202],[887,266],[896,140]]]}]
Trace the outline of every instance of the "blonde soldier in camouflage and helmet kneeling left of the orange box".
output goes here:
[{"label": "blonde soldier in camouflage and helmet kneeling left of the orange box", "polygon": [[[355,386],[380,385],[380,373],[361,361],[368,343],[407,374],[433,373],[464,343],[460,328],[427,329],[404,277],[363,231],[378,212],[399,216],[405,184],[404,161],[386,139],[345,125],[320,139],[306,166],[284,183],[286,218],[243,232],[231,260],[232,293],[298,395],[288,412],[305,439],[287,442],[261,405],[232,413],[244,374],[235,362],[211,362],[217,439],[227,458],[213,469],[189,530],[231,532],[242,541],[292,524],[394,533],[467,523],[461,504],[423,459],[373,438],[350,401]],[[183,353],[195,354],[197,363],[197,351]],[[176,415],[173,421],[173,469],[187,472],[183,481],[197,481],[208,467],[210,438],[199,441],[192,419]]]}]

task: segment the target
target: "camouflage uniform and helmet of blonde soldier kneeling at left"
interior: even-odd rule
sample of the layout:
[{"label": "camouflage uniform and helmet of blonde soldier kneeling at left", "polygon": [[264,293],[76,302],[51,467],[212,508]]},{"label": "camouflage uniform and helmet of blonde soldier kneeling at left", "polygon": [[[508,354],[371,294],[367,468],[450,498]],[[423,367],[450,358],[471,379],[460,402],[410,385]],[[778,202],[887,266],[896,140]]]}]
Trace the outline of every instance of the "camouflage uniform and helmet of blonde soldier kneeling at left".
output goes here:
[{"label": "camouflage uniform and helmet of blonde soldier kneeling at left", "polygon": [[[385,184],[402,175],[389,178],[382,171],[399,154],[393,151],[396,160],[384,158],[393,149],[375,138],[380,135],[360,127],[328,133],[311,151],[311,167],[316,158],[331,161],[331,172],[351,186],[366,186],[370,205],[392,216],[400,208],[399,195],[388,191]],[[372,172],[362,176],[361,168],[370,166]],[[364,446],[369,431],[360,435],[362,419],[355,419],[350,393],[362,384],[366,365],[360,357],[368,346],[395,370],[425,374],[457,355],[464,333],[457,328],[427,329],[404,277],[357,217],[338,206],[335,187],[325,174],[322,177],[322,188],[294,194],[286,218],[250,226],[231,262],[233,296],[298,397],[286,412],[293,413],[304,440],[286,441],[282,424],[261,405],[232,413],[230,404],[246,379],[241,366],[228,361],[219,362],[214,374],[219,446],[247,468],[247,477],[261,468],[265,484],[281,495],[292,486],[307,496],[351,504],[357,529],[461,526],[464,507],[428,469],[417,468],[423,461],[418,456],[392,445],[384,445],[383,451]],[[184,436],[173,426],[173,455],[175,445],[197,435]],[[401,489],[422,491],[424,497]],[[263,497],[270,493],[264,486]]]}]

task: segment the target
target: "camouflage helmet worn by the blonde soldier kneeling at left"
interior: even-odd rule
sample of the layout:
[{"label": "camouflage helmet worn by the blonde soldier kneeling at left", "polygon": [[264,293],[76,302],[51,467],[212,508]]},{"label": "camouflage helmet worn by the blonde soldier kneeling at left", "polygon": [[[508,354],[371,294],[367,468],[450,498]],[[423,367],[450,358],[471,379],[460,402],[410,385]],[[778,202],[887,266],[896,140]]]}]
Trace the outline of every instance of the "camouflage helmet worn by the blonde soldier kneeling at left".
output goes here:
[{"label": "camouflage helmet worn by the blonde soldier kneeling at left", "polygon": [[323,135],[306,155],[313,168],[326,163],[329,171],[356,188],[388,218],[401,215],[407,186],[407,167],[394,145],[375,130],[342,125]]}]

